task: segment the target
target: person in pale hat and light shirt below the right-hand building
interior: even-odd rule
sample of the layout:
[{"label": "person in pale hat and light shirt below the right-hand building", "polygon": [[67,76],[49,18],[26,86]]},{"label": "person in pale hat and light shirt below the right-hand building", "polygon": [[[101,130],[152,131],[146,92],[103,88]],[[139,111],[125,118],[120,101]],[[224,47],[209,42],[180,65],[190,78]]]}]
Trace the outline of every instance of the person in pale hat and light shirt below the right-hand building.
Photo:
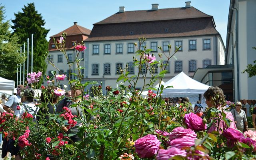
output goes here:
[{"label": "person in pale hat and light shirt below the right-hand building", "polygon": [[[242,103],[241,102],[236,102],[235,109],[231,111],[233,117],[234,117],[234,122],[236,123],[236,128],[240,130],[241,132],[244,132],[244,129],[247,131],[248,130],[248,124],[247,124],[247,118],[244,110],[241,110],[242,108]],[[244,126],[245,124],[245,126]]]}]

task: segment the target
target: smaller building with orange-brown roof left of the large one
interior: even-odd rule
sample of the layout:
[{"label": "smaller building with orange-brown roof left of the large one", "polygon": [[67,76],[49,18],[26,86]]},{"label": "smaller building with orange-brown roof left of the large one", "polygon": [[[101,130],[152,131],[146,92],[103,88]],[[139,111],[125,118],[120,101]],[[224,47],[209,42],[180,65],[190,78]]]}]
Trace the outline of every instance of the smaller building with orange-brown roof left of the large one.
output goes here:
[{"label": "smaller building with orange-brown roof left of the large one", "polygon": [[[54,40],[55,39],[60,39],[60,35],[66,32],[67,36],[66,36],[66,53],[68,56],[68,60],[70,62],[74,62],[74,58],[75,58],[75,43],[81,43],[82,41],[86,40],[88,38],[88,36],[90,35],[91,30],[88,30],[87,28],[84,28],[82,26],[77,25],[77,22],[74,22],[74,25],[67,28],[66,30],[63,30],[62,32],[55,34],[53,36],[50,36],[50,41],[49,41],[49,46],[48,46],[48,51],[49,51],[49,55],[50,58],[49,60],[51,60],[54,65],[56,66],[56,68],[59,69],[59,71],[54,68],[51,64],[47,65],[47,71],[46,74],[52,76],[51,71],[55,70],[56,74],[68,74],[69,70],[72,73],[76,73],[76,66],[72,65],[71,69],[69,68],[69,66],[67,65],[68,60],[66,59],[66,57],[64,56],[64,54],[62,52],[60,52],[55,44],[54,44]],[[78,58],[83,58],[83,60],[80,62],[80,66],[84,67],[84,52],[81,52]],[[82,72],[84,72],[84,70],[82,70]],[[68,75],[67,75],[68,76]],[[74,78],[74,75],[70,75],[70,79]],[[61,81],[60,82],[60,87],[63,87],[63,85],[66,84],[68,86],[68,80],[65,81]],[[69,86],[70,89],[70,86]]]}]

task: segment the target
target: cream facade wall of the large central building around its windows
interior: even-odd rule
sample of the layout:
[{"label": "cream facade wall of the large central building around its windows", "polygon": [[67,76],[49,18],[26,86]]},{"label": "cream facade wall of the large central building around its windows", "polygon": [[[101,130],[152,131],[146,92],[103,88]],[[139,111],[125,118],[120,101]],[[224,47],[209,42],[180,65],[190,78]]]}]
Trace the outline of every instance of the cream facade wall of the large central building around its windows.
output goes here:
[{"label": "cream facade wall of the large central building around its windows", "polygon": [[[204,50],[204,40],[210,39],[210,49]],[[196,40],[196,50],[189,50],[189,41]],[[176,76],[180,72],[175,72],[175,62],[180,60],[182,61],[182,71],[188,76],[192,77],[194,72],[189,72],[189,61],[196,61],[196,68],[203,68],[204,60],[211,60],[211,65],[216,64],[224,64],[224,44],[221,40],[220,36],[201,36],[201,37],[182,37],[182,38],[149,38],[146,40],[147,49],[150,48],[151,42],[157,42],[157,46],[161,46],[163,48],[163,42],[169,42],[172,46],[171,55],[175,50],[175,42],[182,41],[182,50],[178,51],[175,54],[176,58],[170,59],[170,72],[166,73],[164,78],[164,82],[170,80],[172,77]],[[138,44],[138,40],[120,40],[120,41],[101,41],[101,42],[85,42],[87,50],[85,52],[85,56],[88,57],[88,60],[85,60],[85,80],[104,80],[104,84],[106,86],[116,86],[116,80],[118,75],[116,74],[116,63],[122,62],[123,69],[128,62],[133,62],[133,56],[138,58],[135,53],[128,53],[128,43]],[[110,44],[111,52],[110,54],[104,54],[104,45]],[[116,53],[116,44],[123,44],[123,52]],[[217,46],[216,46],[217,44]],[[93,45],[99,45],[99,54],[93,54]],[[138,47],[138,46],[137,46]],[[136,47],[134,47],[134,52],[136,52]],[[157,52],[152,52],[154,56],[156,56],[157,60],[160,60]],[[168,52],[165,52],[168,54]],[[217,56],[216,56],[217,54]],[[162,56],[164,57],[164,56]],[[163,58],[166,60],[166,58]],[[87,63],[87,64],[86,64]],[[111,64],[111,74],[104,74],[104,64]],[[92,74],[92,64],[98,64],[99,70],[98,74]],[[160,69],[158,68],[158,73]],[[138,68],[134,68],[134,74],[138,74]],[[130,74],[132,76],[134,74]],[[148,74],[148,80],[151,75]],[[157,84],[158,82],[156,82]],[[128,84],[127,84],[128,85]],[[143,83],[142,80],[138,82],[138,86],[136,88],[142,88]],[[104,86],[103,86],[104,87]],[[88,88],[87,88],[88,89]]]}]

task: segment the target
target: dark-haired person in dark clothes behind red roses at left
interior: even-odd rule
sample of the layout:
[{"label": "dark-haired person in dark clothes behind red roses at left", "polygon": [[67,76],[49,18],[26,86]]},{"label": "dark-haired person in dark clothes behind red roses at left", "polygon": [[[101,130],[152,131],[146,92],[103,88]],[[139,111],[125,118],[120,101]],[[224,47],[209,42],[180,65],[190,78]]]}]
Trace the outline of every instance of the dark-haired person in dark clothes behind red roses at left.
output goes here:
[{"label": "dark-haired person in dark clothes behind red roses at left", "polygon": [[[57,89],[56,86],[46,86],[44,94],[42,93],[40,96],[41,103],[44,103],[46,105],[46,108],[40,108],[39,113],[40,114],[55,114],[55,108],[54,104],[58,102],[58,96],[54,94],[54,89]],[[39,116],[38,116],[39,118]],[[49,116],[46,115],[44,117],[46,120],[49,120]]]}]

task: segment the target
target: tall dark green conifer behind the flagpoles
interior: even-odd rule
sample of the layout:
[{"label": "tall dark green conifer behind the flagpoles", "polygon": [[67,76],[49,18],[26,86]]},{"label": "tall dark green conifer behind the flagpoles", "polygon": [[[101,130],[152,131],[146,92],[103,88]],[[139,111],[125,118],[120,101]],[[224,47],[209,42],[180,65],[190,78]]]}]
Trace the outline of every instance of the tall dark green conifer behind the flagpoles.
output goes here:
[{"label": "tall dark green conifer behind the flagpoles", "polygon": [[[12,20],[14,26],[12,29],[14,33],[20,37],[18,41],[20,44],[27,42],[27,38],[30,38],[29,57],[31,58],[31,34],[34,34],[33,40],[33,72],[41,71],[43,74],[46,71],[47,64],[44,54],[48,51],[48,41],[46,36],[49,32],[43,26],[45,24],[41,14],[36,11],[34,3],[24,5],[22,12],[14,14],[16,17]],[[31,71],[31,59],[29,62],[29,72]]]}]

